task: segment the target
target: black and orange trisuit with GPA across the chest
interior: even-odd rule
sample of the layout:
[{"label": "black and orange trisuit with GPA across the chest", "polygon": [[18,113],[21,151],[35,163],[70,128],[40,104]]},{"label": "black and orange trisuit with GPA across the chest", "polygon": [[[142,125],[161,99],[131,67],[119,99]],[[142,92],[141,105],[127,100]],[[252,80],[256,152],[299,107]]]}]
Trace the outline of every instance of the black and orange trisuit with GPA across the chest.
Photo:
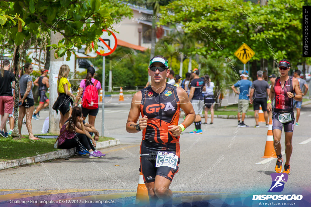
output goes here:
[{"label": "black and orange trisuit with GPA across the chest", "polygon": [[166,84],[160,94],[154,92],[151,86],[141,90],[142,102],[140,111],[142,117],[148,118],[147,127],[142,132],[142,144],[140,147],[140,172],[144,182],[154,182],[156,175],[163,176],[172,181],[176,169],[160,166],[156,168],[156,155],[158,151],[174,153],[180,157],[179,136],[174,137],[168,131],[168,126],[178,125],[179,98],[176,86]]}]

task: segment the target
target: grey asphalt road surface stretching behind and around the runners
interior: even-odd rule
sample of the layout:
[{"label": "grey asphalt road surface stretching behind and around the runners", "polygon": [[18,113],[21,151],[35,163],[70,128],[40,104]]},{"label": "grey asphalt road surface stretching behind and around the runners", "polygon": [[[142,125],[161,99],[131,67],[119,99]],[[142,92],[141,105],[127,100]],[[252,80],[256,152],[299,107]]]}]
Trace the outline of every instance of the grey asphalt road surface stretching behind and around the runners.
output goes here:
[{"label": "grey asphalt road surface stretching behind and around the runners", "polygon": [[[139,145],[142,132],[130,134],[125,130],[130,100],[122,103],[114,101],[105,106],[105,136],[120,139],[120,146],[103,150],[102,152],[107,154],[103,158],[72,156],[68,160],[46,161],[46,169],[41,164],[31,164],[2,170],[0,188],[105,190],[81,192],[79,196],[135,192],[139,177]],[[47,114],[48,111],[42,111],[42,118],[32,121],[35,133],[36,130],[40,133],[40,126],[42,127],[44,116]],[[299,144],[311,137],[310,118],[309,104],[302,107],[300,126],[294,128],[291,174],[283,193],[311,186],[311,180],[307,176],[311,166],[306,162],[311,156],[311,142]],[[97,121],[96,128],[100,129],[100,118]],[[182,118],[179,122],[181,121]],[[254,126],[255,119],[245,119],[245,123]],[[265,123],[260,123],[260,128],[236,128],[236,124],[237,120],[234,119],[216,118],[212,125],[202,124],[201,135],[188,133],[194,129],[194,125],[183,132],[180,138],[179,172],[170,186],[172,191],[187,191],[187,195],[195,195],[196,192],[202,191],[211,194],[267,192],[271,185],[270,173],[274,173],[276,159],[265,164],[255,164],[265,160],[261,158],[267,138],[267,128],[263,127]],[[26,130],[26,126],[23,128]],[[284,133],[281,144],[284,151]],[[0,192],[1,194],[8,192]],[[74,195],[73,193],[70,196]]]}]

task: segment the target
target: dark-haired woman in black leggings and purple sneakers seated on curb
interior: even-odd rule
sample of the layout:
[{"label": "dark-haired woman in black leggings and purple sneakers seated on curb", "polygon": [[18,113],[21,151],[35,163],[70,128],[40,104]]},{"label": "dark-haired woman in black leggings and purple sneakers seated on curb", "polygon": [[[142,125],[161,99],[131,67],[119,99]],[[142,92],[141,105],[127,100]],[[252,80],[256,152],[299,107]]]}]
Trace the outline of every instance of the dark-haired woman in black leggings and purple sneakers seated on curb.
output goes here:
[{"label": "dark-haired woman in black leggings and purple sneakers seated on curb", "polygon": [[[71,149],[77,147],[77,149],[84,151],[83,146],[85,146],[90,153],[89,158],[99,158],[102,154],[95,150],[94,146],[96,146],[96,142],[93,137],[86,132],[82,121],[81,108],[74,107],[71,117],[63,124],[59,132],[58,148]],[[93,141],[94,146],[86,136],[90,136],[89,138]]]}]

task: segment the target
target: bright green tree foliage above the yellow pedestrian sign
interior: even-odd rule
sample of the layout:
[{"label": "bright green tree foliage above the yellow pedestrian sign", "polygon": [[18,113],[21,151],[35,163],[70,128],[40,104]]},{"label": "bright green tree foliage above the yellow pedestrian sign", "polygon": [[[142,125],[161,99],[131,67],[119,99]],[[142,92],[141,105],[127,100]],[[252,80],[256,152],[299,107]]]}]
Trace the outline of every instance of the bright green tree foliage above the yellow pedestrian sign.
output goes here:
[{"label": "bright green tree foliage above the yellow pedestrian sign", "polygon": [[301,57],[302,5],[301,0],[274,0],[263,7],[243,0],[226,3],[181,0],[162,7],[161,15],[166,18],[161,18],[160,23],[183,24],[185,33],[203,43],[203,47],[190,49],[193,54],[207,58],[232,57],[246,43],[255,52],[252,60],[272,59],[276,53],[278,61],[287,58],[296,64],[304,59]]}]

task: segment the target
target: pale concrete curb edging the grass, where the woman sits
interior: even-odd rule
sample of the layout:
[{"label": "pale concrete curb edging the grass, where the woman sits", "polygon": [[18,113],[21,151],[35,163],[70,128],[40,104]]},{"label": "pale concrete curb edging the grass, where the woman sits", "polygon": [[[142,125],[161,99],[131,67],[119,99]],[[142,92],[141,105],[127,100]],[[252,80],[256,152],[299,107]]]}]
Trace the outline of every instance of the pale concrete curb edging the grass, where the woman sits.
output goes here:
[{"label": "pale concrete curb edging the grass, where the woman sits", "polygon": [[[97,142],[96,148],[99,150],[99,149],[104,149],[104,148],[108,148],[108,147],[116,146],[116,145],[120,145],[119,139],[109,140],[105,142]],[[75,154],[75,151],[76,149],[72,148],[69,150],[58,150],[58,151],[48,152],[42,155],[40,155],[39,152],[36,152],[37,155],[33,157],[25,157],[25,158],[16,159],[16,160],[2,161],[0,162],[0,170],[13,168],[13,167],[17,167],[17,166],[21,166],[25,164],[43,162],[46,160],[54,160],[58,158],[71,157],[72,155]]]}]

